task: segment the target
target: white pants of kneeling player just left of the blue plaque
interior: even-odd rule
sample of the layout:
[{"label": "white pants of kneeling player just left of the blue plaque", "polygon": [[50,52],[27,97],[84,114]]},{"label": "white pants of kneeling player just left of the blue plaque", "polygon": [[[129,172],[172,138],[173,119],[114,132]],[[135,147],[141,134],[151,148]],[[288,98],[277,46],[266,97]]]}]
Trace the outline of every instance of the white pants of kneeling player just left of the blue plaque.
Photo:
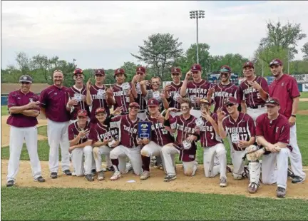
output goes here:
[{"label": "white pants of kneeling player just left of the blue plaque", "polygon": [[133,171],[135,175],[140,175],[142,171],[142,160],[140,154],[140,146],[135,148],[126,148],[123,145],[119,145],[116,148],[113,148],[110,153],[111,160],[118,159],[119,165],[116,168],[113,165],[115,170],[120,170],[120,173],[126,173],[126,157],[129,158],[131,165],[133,166]]}]

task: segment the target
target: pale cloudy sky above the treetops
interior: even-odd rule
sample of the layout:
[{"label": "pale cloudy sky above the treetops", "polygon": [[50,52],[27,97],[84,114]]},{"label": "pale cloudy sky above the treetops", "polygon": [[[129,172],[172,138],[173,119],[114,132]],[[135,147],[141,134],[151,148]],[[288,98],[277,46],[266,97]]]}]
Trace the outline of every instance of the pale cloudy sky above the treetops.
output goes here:
[{"label": "pale cloudy sky above the treetops", "polygon": [[[308,34],[308,1],[3,1],[1,68],[18,51],[73,61],[80,68],[118,68],[138,62],[143,39],[170,33],[186,50],[195,43],[195,21],[189,11],[204,10],[199,42],[210,45],[212,55],[252,55],[266,36],[266,21],[301,23]],[[300,11],[300,13],[299,13]],[[300,48],[308,41],[298,43]]]}]

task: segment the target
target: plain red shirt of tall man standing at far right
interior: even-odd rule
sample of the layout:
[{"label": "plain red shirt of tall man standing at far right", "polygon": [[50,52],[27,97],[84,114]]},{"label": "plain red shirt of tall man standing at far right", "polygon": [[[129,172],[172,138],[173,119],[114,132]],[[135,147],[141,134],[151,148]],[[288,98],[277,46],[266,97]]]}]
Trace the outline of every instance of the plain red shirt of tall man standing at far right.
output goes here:
[{"label": "plain red shirt of tall man standing at far right", "polygon": [[297,81],[284,73],[281,78],[270,84],[270,97],[278,98],[279,113],[289,119],[292,113],[293,98],[300,96]]}]

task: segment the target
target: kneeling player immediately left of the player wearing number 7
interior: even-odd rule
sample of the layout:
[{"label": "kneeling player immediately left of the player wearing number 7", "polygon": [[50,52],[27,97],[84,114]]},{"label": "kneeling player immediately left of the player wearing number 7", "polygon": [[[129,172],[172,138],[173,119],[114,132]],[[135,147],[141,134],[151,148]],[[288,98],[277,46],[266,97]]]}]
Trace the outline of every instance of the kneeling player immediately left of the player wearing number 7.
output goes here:
[{"label": "kneeling player immediately left of the player wearing number 7", "polygon": [[175,111],[175,108],[169,108],[165,115],[166,127],[170,127],[171,132],[177,131],[175,143],[170,143],[163,146],[163,160],[167,175],[164,181],[168,182],[176,179],[175,174],[175,154],[180,154],[180,160],[183,161],[184,174],[188,176],[195,175],[197,170],[197,161],[195,155],[197,150],[198,135],[195,131],[195,120],[193,115],[190,115],[191,103],[188,99],[183,99],[180,105],[181,115],[170,118],[170,111]]}]

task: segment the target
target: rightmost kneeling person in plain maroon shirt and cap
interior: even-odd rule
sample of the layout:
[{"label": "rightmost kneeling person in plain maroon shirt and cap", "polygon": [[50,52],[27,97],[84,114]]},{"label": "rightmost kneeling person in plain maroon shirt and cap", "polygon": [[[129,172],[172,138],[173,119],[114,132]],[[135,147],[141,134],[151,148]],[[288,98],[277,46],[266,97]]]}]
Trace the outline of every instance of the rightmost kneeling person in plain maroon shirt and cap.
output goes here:
[{"label": "rightmost kneeling person in plain maroon shirt and cap", "polygon": [[[257,158],[262,157],[262,183],[277,183],[277,197],[285,197],[287,188],[289,144],[289,122],[279,114],[279,100],[269,98],[265,103],[267,113],[257,117],[257,143],[263,146],[257,150]],[[277,168],[276,168],[277,164]]]}]

